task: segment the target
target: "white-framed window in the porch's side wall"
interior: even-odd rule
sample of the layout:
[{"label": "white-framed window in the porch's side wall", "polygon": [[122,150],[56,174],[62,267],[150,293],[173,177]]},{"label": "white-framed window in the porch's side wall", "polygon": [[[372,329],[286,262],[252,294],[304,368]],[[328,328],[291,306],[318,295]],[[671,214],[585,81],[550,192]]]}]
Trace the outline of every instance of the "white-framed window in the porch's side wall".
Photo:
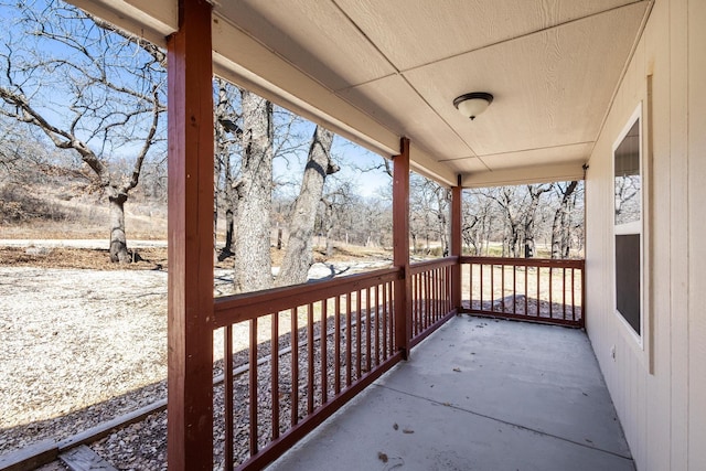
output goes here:
[{"label": "white-framed window in the porch's side wall", "polygon": [[642,338],[641,107],[613,146],[616,311]]}]

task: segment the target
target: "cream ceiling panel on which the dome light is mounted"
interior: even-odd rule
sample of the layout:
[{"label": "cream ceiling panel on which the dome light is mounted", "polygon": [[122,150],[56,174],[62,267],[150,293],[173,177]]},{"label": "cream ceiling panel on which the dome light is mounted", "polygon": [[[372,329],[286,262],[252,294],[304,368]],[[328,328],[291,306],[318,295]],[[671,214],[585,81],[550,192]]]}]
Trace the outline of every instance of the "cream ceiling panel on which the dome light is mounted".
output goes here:
[{"label": "cream ceiling panel on which the dome light is mounted", "polygon": [[[478,156],[593,141],[641,23],[637,3],[405,72]],[[469,122],[454,97],[495,99]]]}]

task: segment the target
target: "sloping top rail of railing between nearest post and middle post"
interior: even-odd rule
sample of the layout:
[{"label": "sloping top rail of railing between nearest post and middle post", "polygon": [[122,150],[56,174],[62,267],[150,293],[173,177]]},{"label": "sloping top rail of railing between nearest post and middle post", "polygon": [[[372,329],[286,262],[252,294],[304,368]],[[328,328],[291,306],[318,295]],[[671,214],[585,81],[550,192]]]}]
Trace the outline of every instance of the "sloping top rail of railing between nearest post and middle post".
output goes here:
[{"label": "sloping top rail of railing between nearest post and middle post", "polygon": [[214,330],[297,308],[322,299],[347,295],[360,289],[402,279],[402,268],[384,268],[327,281],[313,281],[285,288],[247,292],[214,300]]}]

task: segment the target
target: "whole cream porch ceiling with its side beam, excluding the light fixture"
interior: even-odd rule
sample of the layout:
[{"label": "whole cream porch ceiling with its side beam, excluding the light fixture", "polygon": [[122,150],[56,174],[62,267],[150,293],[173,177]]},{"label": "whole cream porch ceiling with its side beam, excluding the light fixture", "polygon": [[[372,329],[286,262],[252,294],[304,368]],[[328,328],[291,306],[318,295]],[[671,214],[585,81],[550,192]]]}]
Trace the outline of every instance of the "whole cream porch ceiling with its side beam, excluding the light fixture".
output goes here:
[{"label": "whole cream porch ceiling with its side beam, excluding the light fixture", "polygon": [[[175,0],[75,0],[163,43]],[[580,178],[651,0],[221,0],[215,72],[446,184]],[[474,121],[452,100],[495,97]]]}]

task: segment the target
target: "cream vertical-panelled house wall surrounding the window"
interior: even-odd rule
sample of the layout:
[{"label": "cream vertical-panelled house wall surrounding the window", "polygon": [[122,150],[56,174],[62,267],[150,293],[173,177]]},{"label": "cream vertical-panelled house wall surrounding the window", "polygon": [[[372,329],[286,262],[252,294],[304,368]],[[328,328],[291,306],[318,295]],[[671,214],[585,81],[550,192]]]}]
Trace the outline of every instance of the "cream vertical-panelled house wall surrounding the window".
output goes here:
[{"label": "cream vertical-panelled house wall surrounding the window", "polygon": [[[704,25],[706,1],[655,1],[588,162],[587,331],[641,471],[706,470]],[[612,175],[640,104],[642,345],[614,312]]]}]

